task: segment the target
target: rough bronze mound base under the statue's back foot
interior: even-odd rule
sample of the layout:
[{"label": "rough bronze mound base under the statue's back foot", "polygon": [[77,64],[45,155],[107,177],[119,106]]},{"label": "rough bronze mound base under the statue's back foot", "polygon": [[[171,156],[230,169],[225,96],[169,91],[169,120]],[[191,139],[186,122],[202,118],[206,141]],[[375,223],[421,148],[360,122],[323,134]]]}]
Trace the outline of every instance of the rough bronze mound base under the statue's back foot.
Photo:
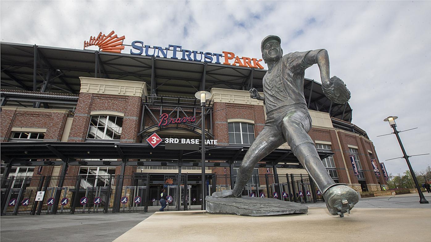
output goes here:
[{"label": "rough bronze mound base under the statue's back foot", "polygon": [[296,202],[278,199],[243,196],[240,198],[214,198],[206,196],[206,212],[210,214],[236,214],[267,216],[306,214],[308,207]]}]

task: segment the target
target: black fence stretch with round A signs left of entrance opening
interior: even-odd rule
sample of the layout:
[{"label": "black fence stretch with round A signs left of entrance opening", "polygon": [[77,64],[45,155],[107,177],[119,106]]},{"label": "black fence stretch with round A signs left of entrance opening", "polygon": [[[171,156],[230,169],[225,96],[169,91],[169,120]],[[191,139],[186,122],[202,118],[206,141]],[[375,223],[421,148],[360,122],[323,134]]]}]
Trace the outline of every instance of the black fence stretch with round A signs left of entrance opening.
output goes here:
[{"label": "black fence stretch with round A signs left of entrance opening", "polygon": [[146,212],[148,182],[147,174],[12,176],[1,180],[1,215]]}]

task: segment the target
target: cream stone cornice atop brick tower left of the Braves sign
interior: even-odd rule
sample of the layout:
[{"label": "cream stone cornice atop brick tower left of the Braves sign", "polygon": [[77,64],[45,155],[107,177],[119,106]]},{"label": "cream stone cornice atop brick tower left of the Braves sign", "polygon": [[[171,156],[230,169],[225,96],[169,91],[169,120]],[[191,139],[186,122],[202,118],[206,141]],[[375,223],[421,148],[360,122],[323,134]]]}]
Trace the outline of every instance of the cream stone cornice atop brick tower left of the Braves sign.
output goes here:
[{"label": "cream stone cornice atop brick tower left of the Braves sign", "polygon": [[79,77],[79,79],[81,80],[79,92],[135,97],[147,95],[147,88],[143,82],[94,77]]}]

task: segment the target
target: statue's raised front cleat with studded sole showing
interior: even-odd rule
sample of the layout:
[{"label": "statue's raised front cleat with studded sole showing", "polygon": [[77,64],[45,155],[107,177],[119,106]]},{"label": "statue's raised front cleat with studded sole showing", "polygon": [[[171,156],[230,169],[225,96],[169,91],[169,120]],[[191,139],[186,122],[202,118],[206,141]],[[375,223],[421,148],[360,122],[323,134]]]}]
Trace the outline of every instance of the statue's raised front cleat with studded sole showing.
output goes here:
[{"label": "statue's raised front cleat with studded sole showing", "polygon": [[358,193],[346,185],[337,185],[329,188],[323,196],[326,201],[326,208],[332,215],[340,215],[344,217],[344,213],[349,213],[350,210],[359,201]]}]

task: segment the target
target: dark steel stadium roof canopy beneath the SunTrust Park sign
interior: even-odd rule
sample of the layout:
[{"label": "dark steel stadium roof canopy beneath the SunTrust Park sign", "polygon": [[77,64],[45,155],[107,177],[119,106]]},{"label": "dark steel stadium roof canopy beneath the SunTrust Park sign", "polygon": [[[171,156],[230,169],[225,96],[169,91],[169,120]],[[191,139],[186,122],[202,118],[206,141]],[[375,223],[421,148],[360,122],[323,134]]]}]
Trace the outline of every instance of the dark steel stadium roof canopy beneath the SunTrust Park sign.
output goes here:
[{"label": "dark steel stadium roof canopy beneath the SunTrust Park sign", "polygon": [[[159,96],[193,97],[202,89],[202,83],[205,83],[206,90],[248,90],[254,87],[262,92],[262,78],[266,73],[262,69],[225,64],[5,42],[0,43],[0,58],[2,101],[12,95],[5,89],[8,92],[16,90],[13,94],[15,99],[21,98],[16,97],[20,96],[19,90],[36,91],[44,99],[53,98],[45,96],[49,92],[56,95],[79,94],[79,77],[145,82],[148,93]],[[350,105],[332,103],[323,95],[320,83],[305,79],[304,94],[309,109],[351,122]],[[26,92],[22,96],[29,94]],[[14,98],[8,105],[27,105],[25,98],[20,101]],[[74,98],[65,96],[60,99]],[[58,103],[53,103],[47,101],[46,107],[58,108]]]}]

